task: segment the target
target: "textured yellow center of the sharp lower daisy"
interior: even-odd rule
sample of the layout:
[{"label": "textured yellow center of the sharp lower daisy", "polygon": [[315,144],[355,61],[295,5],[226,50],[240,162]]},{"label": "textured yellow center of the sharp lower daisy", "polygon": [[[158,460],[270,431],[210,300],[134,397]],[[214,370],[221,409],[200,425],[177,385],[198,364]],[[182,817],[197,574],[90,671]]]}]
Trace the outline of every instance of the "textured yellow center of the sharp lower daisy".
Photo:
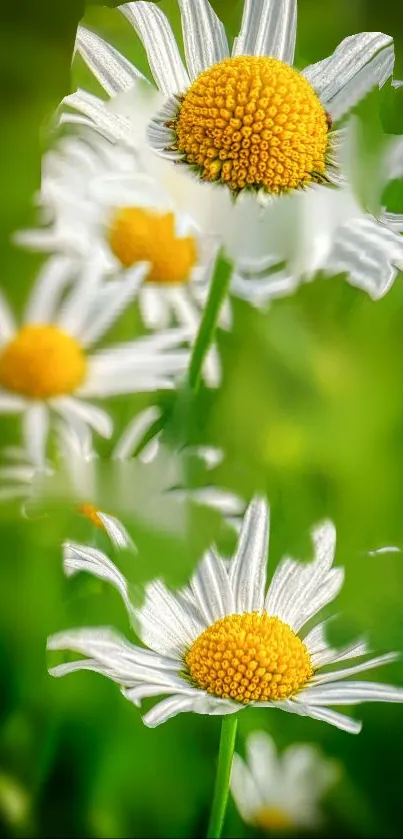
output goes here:
[{"label": "textured yellow center of the sharp lower daisy", "polygon": [[199,687],[245,704],[286,699],[313,673],[305,644],[266,612],[216,621],[196,638],[185,661]]}]

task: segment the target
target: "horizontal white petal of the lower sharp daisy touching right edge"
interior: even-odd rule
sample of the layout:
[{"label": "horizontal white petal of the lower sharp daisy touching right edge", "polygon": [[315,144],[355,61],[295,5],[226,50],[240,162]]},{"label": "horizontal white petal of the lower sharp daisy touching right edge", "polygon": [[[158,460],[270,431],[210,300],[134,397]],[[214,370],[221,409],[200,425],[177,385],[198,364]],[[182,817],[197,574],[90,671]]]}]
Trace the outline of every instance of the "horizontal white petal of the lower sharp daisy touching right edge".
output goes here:
[{"label": "horizontal white petal of the lower sharp daisy touching right edge", "polygon": [[[335,677],[337,673],[334,674]],[[403,702],[403,688],[378,682],[345,682],[308,687],[298,694],[312,705],[354,705],[359,702]]]}]

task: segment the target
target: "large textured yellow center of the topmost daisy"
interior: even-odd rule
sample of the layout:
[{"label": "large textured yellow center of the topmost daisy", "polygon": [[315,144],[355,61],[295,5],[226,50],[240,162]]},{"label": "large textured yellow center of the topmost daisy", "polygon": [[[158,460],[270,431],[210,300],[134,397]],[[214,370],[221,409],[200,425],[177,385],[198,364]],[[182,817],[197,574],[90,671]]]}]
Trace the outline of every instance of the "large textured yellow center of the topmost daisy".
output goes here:
[{"label": "large textured yellow center of the topmost daisy", "polygon": [[239,56],[209,67],[169,126],[187,163],[235,192],[323,180],[326,111],[309,82],[277,58]]}]

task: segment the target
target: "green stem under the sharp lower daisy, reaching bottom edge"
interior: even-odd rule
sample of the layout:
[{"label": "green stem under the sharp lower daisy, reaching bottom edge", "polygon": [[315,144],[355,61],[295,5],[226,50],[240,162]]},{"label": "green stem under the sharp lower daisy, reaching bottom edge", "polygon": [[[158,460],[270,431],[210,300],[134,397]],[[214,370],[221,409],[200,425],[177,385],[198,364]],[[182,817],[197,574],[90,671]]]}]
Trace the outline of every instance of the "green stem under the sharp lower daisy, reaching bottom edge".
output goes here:
[{"label": "green stem under the sharp lower daisy, reaching bottom edge", "polygon": [[234,754],[238,715],[228,714],[222,718],[220,750],[215,781],[213,806],[211,808],[207,839],[219,839],[227,809],[232,757]]}]

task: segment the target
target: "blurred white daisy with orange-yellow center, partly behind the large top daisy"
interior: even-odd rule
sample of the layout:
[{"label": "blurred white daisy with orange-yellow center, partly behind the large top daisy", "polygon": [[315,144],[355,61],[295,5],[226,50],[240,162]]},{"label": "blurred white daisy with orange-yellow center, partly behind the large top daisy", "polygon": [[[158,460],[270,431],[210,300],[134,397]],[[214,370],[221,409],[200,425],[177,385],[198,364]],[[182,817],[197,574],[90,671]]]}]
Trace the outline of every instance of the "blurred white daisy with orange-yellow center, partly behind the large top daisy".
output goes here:
[{"label": "blurred white daisy with orange-yellow center, partly behind the large top daisy", "polygon": [[[158,331],[183,326],[195,336],[209,292],[216,243],[202,236],[188,214],[176,211],[168,193],[142,174],[136,155],[121,144],[85,131],[64,138],[48,156],[40,197],[46,226],[18,233],[18,244],[73,260],[95,256],[105,280],[98,292],[102,307],[113,302],[117,283],[125,283],[139,263],[147,262],[137,294],[144,325]],[[220,324],[229,323],[225,301]],[[209,384],[218,384],[215,349],[204,373]]]}]

